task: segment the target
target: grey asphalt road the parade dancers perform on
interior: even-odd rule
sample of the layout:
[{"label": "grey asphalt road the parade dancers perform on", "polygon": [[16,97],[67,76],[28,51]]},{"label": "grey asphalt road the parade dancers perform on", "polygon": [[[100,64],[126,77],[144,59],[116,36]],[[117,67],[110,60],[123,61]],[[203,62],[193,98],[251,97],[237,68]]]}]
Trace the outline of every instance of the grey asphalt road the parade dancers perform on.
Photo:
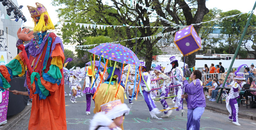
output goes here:
[{"label": "grey asphalt road the parade dancers perform on", "polygon": [[[66,93],[69,93],[69,87],[65,87]],[[77,103],[70,102],[70,96],[65,97],[66,105],[66,121],[68,130],[88,130],[90,120],[93,118],[94,102],[91,101],[91,115],[86,115],[86,97],[76,98]],[[134,100],[134,104],[129,104],[128,99],[124,101],[130,108],[130,113],[125,117],[124,130],[186,130],[187,108],[184,105],[185,112],[181,116],[181,111],[174,111],[169,118],[152,119],[148,107],[143,100],[142,95],[138,95],[138,100]],[[171,99],[167,100],[170,107],[174,104]],[[162,109],[161,103],[156,102],[159,109]],[[157,115],[160,117],[162,114]],[[30,115],[21,119],[10,130],[27,130],[27,123]],[[241,126],[233,125],[228,120],[228,115],[215,113],[205,110],[201,117],[201,130],[255,130],[256,121],[239,118]]]}]

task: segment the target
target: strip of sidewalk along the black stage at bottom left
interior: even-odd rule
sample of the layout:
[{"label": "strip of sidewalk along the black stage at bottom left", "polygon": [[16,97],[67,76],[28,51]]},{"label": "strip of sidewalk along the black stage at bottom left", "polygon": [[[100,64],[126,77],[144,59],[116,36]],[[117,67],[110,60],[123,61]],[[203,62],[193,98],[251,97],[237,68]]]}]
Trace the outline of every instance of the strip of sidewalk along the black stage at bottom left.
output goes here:
[{"label": "strip of sidewalk along the black stage at bottom left", "polygon": [[20,113],[7,117],[7,123],[0,126],[0,130],[9,130],[12,126],[14,126],[20,119],[26,116],[31,111],[31,106],[28,105],[21,111]]}]

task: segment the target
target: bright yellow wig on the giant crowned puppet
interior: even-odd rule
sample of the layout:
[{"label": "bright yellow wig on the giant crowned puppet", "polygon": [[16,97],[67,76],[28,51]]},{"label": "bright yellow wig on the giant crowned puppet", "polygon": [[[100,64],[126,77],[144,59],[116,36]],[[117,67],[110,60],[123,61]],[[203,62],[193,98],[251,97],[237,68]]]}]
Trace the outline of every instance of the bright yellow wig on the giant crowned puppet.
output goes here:
[{"label": "bright yellow wig on the giant crowned puppet", "polygon": [[[47,23],[44,21],[45,15],[48,17],[48,22]],[[41,16],[40,16],[39,22],[38,23],[34,22],[34,25],[35,25],[34,32],[41,32],[41,31],[44,32],[44,31],[49,30],[49,29],[55,29],[54,25],[53,25],[53,23],[52,23],[52,21],[49,17],[48,12],[42,13]]]}]

